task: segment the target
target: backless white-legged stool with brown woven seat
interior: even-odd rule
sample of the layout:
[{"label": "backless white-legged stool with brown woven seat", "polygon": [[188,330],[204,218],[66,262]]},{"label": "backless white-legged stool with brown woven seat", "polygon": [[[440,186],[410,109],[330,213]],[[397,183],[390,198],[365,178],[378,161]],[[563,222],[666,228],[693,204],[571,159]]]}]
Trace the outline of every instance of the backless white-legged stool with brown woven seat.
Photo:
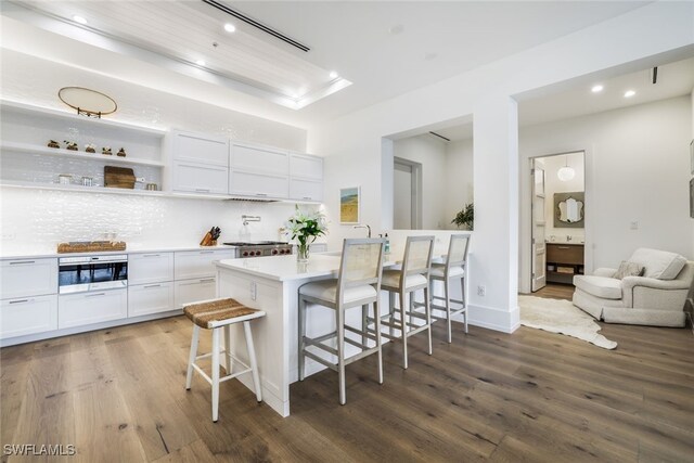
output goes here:
[{"label": "backless white-legged stool with brown woven seat", "polygon": [[[188,374],[185,376],[185,389],[190,390],[193,382],[193,370],[200,373],[213,386],[213,421],[216,423],[219,416],[219,383],[234,378],[244,373],[250,372],[253,375],[253,385],[256,389],[258,402],[262,401],[260,380],[258,377],[258,364],[256,362],[256,351],[253,345],[253,334],[250,333],[250,320],[265,317],[265,312],[231,299],[210,299],[192,303],[183,306],[183,312],[193,323],[193,339],[191,340],[191,352],[188,361]],[[250,365],[239,360],[231,353],[231,330],[230,325],[234,323],[243,323],[243,331],[246,338],[246,348],[248,349],[248,360]],[[219,332],[224,329],[226,348],[220,349]],[[213,331],[213,351],[202,356],[197,355],[197,345],[200,342],[200,330]],[[224,368],[227,375],[219,377],[219,355],[226,353]],[[203,369],[195,362],[200,359],[211,357],[211,377],[209,377]],[[231,374],[232,360],[241,364],[245,370]]]}]

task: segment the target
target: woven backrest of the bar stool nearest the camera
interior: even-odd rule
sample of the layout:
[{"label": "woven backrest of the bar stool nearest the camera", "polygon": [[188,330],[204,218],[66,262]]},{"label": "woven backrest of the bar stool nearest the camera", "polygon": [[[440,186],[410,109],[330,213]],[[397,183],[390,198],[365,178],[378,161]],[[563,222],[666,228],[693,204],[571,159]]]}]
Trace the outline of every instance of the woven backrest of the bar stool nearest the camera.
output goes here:
[{"label": "woven backrest of the bar stool nearest the camera", "polygon": [[346,239],[337,276],[337,299],[345,288],[375,285],[381,291],[383,273],[383,239]]}]

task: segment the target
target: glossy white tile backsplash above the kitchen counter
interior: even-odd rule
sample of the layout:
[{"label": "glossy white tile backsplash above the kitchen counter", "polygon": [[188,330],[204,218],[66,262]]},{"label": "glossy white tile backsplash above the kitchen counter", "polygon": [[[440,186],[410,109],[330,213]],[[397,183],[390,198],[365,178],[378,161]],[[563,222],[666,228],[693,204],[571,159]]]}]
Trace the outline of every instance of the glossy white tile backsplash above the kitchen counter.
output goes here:
[{"label": "glossy white tile backsplash above the kitchen counter", "polygon": [[[279,240],[290,203],[146,197],[68,191],[0,190],[0,252],[55,249],[66,241],[117,240],[134,245],[195,245],[213,226],[220,241]],[[318,206],[305,206],[312,209]],[[241,216],[260,216],[243,226]]]}]

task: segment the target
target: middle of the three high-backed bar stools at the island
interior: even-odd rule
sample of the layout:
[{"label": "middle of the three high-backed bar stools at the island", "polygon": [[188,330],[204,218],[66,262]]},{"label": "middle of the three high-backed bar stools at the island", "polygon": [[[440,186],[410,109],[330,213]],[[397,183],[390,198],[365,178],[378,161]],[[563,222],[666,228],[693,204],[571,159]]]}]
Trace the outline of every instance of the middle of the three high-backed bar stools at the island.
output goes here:
[{"label": "middle of the three high-backed bar stools at the island", "polygon": [[[382,333],[388,339],[402,340],[402,368],[408,368],[408,337],[424,330],[428,333],[428,353],[432,355],[432,312],[429,310],[429,270],[434,236],[408,236],[404,245],[404,257],[401,270],[384,270],[381,288],[389,293],[388,313],[382,316],[382,323],[389,327],[389,333]],[[424,291],[424,313],[414,310],[414,292]],[[395,295],[399,295],[400,319],[396,318]],[[409,296],[409,304],[406,304]],[[412,319],[424,320],[424,324],[413,323]],[[369,319],[367,323],[372,320]],[[376,330],[378,330],[376,327]],[[394,330],[400,332],[394,335]]]}]

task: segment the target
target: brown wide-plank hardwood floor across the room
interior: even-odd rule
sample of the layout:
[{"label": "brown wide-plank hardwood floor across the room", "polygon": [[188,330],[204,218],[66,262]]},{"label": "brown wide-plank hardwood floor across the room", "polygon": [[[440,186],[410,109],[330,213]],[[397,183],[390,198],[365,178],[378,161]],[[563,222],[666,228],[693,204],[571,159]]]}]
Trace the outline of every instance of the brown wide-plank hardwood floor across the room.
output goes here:
[{"label": "brown wide-plank hardwood floor across the room", "polygon": [[[689,330],[604,325],[619,343],[476,326],[453,344],[435,325],[347,368],[292,386],[282,419],[237,382],[184,390],[191,324],[172,318],[0,350],[1,438],[75,445],[70,461],[692,461],[694,337]],[[209,342],[201,343],[208,349]],[[14,458],[10,458],[12,461]],[[2,461],[8,456],[3,455]],[[17,461],[30,461],[16,458]]]}]

